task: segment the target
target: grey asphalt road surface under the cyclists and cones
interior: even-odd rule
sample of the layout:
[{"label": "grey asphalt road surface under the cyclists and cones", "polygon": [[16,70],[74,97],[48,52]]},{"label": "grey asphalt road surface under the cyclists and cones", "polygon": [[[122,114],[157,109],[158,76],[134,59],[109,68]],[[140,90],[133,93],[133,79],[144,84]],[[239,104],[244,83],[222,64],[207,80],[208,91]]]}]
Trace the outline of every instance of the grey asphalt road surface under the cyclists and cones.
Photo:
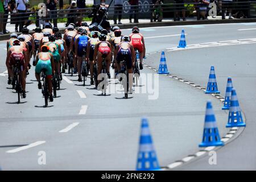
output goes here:
[{"label": "grey asphalt road surface under the cyclists and cones", "polygon": [[[187,44],[196,44],[256,38],[255,30],[238,31],[255,27],[255,23],[241,23],[143,28],[141,32],[146,38],[147,53],[150,53],[144,61],[158,68],[160,53],[155,52],[176,47],[181,28],[187,34]],[[122,33],[129,34],[130,30]],[[4,48],[5,42],[0,42],[0,56],[3,57],[0,73],[6,71]],[[195,159],[180,169],[255,169],[254,48],[255,44],[244,44],[166,51],[170,72],[201,86],[206,86],[210,65],[213,64],[222,96],[225,95],[226,77],[232,76],[247,124],[240,137],[218,150],[218,165],[210,166],[206,157]],[[155,73],[147,67],[142,72]],[[149,100],[152,93],[148,92],[134,93],[130,95],[132,98],[124,100],[122,89],[119,84],[114,84],[114,80],[110,86],[117,86],[117,91],[109,96],[100,96],[93,86],[89,86],[89,80],[86,82],[88,85],[81,86],[76,81],[77,77],[64,75],[69,81],[63,80],[61,90],[57,92],[59,97],[47,108],[42,107],[44,100],[37,89],[34,68],[27,78],[27,98],[19,105],[15,104],[16,94],[7,85],[7,77],[0,76],[0,166],[3,170],[133,170],[143,116],[149,119],[160,166],[166,166],[200,150],[198,144],[209,99],[212,100],[221,137],[228,132],[225,128],[228,112],[221,110],[220,101],[173,78],[159,76],[156,100]],[[148,90],[151,86],[144,81],[140,85],[134,89]],[[79,94],[77,90],[81,90],[86,98],[81,98],[84,96],[80,96],[81,91]],[[74,127],[71,130],[59,132],[72,123]],[[39,141],[42,144],[15,151],[20,146]],[[39,151],[46,152],[46,165],[38,164]]]}]

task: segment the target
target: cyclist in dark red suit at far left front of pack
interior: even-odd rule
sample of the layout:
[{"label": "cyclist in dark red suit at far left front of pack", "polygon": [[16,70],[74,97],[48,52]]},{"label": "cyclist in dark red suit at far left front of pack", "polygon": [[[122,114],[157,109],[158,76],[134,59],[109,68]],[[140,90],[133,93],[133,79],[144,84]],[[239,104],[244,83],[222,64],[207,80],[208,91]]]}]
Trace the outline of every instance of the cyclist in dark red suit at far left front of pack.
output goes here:
[{"label": "cyclist in dark red suit at far left front of pack", "polygon": [[[7,58],[6,58],[6,66],[8,69],[8,73],[10,77],[13,77],[13,66],[19,62],[19,69],[20,69],[20,83],[22,85],[22,97],[26,98],[26,80],[25,80],[25,73],[26,73],[26,59],[27,59],[27,53],[26,49],[22,46],[20,46],[20,41],[18,39],[15,39],[13,41],[13,46],[10,47],[8,53],[7,53]],[[11,84],[11,78],[8,78],[8,84]]]}]

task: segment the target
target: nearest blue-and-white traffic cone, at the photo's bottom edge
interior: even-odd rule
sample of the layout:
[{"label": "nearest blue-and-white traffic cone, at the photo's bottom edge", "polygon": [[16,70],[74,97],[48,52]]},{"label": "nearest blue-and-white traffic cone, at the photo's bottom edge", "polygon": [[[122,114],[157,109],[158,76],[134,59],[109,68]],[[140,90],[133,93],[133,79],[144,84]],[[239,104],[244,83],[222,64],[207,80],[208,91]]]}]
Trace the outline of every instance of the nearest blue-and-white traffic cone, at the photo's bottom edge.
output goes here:
[{"label": "nearest blue-and-white traffic cone, at the photo's bottom edge", "polygon": [[139,152],[137,160],[137,171],[152,171],[160,169],[156,152],[153,146],[147,118],[142,118],[141,138],[139,140]]}]

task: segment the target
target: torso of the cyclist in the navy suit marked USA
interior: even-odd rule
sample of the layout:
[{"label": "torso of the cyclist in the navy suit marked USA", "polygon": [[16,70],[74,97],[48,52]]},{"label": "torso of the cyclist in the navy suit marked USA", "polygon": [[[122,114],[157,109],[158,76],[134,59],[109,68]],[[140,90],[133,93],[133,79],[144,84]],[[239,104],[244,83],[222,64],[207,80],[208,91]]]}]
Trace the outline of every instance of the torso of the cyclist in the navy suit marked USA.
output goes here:
[{"label": "torso of the cyclist in the navy suit marked USA", "polygon": [[[127,42],[123,42],[122,44],[128,44]],[[120,63],[121,61],[126,61],[126,67],[127,69],[131,69],[131,49],[129,48],[125,49],[122,47],[122,44],[119,46],[119,49],[117,51],[117,63]]]}]

